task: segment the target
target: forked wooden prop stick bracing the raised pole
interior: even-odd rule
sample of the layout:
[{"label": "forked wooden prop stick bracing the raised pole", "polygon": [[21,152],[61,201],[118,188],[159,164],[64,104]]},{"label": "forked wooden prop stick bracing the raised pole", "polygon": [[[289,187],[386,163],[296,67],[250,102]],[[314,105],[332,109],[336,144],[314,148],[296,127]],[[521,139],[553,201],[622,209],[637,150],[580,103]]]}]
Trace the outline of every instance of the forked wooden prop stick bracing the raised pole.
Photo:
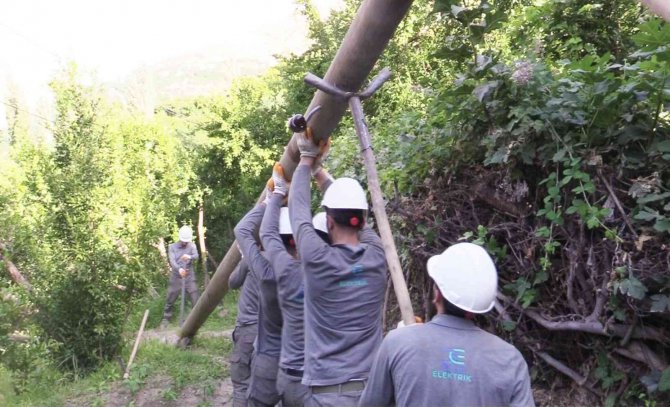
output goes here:
[{"label": "forked wooden prop stick bracing the raised pole", "polygon": [[379,186],[375,155],[372,152],[370,133],[368,132],[368,126],[365,124],[365,115],[363,113],[363,106],[361,105],[361,99],[367,99],[372,96],[390,77],[391,71],[388,68],[382,69],[372,82],[370,82],[370,85],[361,93],[342,91],[311,73],[305,76],[305,82],[331,96],[347,99],[349,101],[349,107],[354,116],[356,134],[358,134],[358,141],[360,142],[361,152],[365,161],[365,170],[368,176],[368,189],[372,196],[372,210],[375,213],[375,220],[377,221],[379,234],[381,235],[382,244],[384,245],[384,253],[386,254],[386,261],[389,265],[389,271],[391,272],[393,289],[398,298],[402,320],[405,325],[411,325],[415,323],[412,302],[409,299],[409,291],[407,290],[405,277],[403,276],[402,268],[400,266],[400,259],[398,258],[398,252],[395,247],[395,242],[393,241],[391,226],[389,225],[388,216],[386,216],[386,205],[384,203],[381,187]]}]

